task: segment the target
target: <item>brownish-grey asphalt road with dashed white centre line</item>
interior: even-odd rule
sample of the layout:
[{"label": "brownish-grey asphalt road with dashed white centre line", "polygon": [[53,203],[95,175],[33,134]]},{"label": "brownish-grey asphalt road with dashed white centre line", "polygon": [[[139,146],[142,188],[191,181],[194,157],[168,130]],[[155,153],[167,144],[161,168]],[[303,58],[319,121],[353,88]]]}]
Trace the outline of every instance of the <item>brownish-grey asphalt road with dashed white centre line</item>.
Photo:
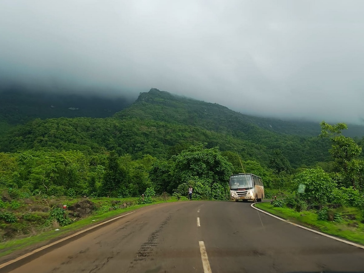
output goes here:
[{"label": "brownish-grey asphalt road with dashed white centre line", "polygon": [[140,209],[12,272],[204,272],[203,247],[205,272],[364,271],[363,249],[250,203],[188,201]]}]

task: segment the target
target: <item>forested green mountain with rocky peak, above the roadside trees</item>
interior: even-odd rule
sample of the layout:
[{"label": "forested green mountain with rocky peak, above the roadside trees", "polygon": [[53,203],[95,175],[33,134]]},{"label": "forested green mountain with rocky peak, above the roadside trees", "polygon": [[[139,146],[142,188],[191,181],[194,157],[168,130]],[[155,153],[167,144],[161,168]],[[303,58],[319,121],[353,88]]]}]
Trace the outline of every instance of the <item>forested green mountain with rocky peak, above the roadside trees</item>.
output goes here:
[{"label": "forested green mountain with rocky peak, above the roadside trees", "polygon": [[1,151],[80,150],[86,154],[115,150],[142,158],[169,158],[196,143],[220,146],[242,158],[268,164],[281,150],[293,167],[328,159],[328,143],[316,137],[279,134],[261,128],[249,116],[151,89],[110,118],[35,119],[1,138]]}]

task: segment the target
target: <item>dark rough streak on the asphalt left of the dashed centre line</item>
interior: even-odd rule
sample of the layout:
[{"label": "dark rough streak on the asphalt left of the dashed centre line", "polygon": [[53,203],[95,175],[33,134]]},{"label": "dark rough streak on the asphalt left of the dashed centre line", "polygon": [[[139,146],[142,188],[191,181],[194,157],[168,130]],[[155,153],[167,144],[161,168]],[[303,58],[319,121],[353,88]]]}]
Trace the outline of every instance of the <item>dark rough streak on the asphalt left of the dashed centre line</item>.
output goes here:
[{"label": "dark rough streak on the asphalt left of the dashed centre line", "polygon": [[169,215],[156,229],[153,233],[150,234],[147,241],[141,245],[139,248],[137,255],[135,256],[134,260],[130,262],[129,269],[133,268],[138,262],[145,261],[145,260],[153,260],[150,256],[153,254],[155,248],[158,245],[158,237],[161,231],[163,230],[164,226],[171,220],[172,215]]}]

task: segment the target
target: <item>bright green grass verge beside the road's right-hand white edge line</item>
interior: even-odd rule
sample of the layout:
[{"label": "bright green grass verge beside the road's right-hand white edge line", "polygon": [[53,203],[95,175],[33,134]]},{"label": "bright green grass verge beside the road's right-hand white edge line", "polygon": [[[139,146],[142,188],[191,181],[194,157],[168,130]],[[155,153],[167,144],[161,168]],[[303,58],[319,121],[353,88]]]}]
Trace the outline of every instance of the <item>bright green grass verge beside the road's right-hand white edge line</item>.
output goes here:
[{"label": "bright green grass verge beside the road's right-hand white edge line", "polygon": [[[360,221],[356,221],[358,227],[351,227],[348,226],[348,223],[354,221],[343,221],[341,223],[319,221],[317,219],[316,211],[297,212],[288,207],[273,207],[272,205],[270,205],[269,202],[256,203],[255,206],[279,217],[288,219],[289,221],[300,223],[303,226],[319,230],[323,233],[345,238],[349,241],[357,242],[364,245],[364,224]],[[349,207],[345,208],[345,211],[355,214],[357,216],[357,219],[362,219],[359,209]]]}]

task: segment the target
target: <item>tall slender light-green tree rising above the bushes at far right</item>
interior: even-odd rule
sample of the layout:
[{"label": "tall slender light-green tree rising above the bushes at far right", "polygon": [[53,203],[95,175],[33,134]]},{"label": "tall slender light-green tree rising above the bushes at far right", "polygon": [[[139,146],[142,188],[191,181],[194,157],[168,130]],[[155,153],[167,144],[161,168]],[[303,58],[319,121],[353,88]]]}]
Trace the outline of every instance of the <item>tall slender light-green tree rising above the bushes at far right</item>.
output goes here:
[{"label": "tall slender light-green tree rising above the bushes at far right", "polygon": [[355,143],[352,138],[345,137],[341,134],[342,130],[348,128],[345,123],[338,123],[330,125],[326,122],[321,122],[322,138],[329,138],[332,146],[329,153],[334,159],[336,170],[343,173],[346,178],[347,185],[352,186],[354,189],[358,182],[358,175],[362,168],[359,156],[361,154],[361,147]]}]

